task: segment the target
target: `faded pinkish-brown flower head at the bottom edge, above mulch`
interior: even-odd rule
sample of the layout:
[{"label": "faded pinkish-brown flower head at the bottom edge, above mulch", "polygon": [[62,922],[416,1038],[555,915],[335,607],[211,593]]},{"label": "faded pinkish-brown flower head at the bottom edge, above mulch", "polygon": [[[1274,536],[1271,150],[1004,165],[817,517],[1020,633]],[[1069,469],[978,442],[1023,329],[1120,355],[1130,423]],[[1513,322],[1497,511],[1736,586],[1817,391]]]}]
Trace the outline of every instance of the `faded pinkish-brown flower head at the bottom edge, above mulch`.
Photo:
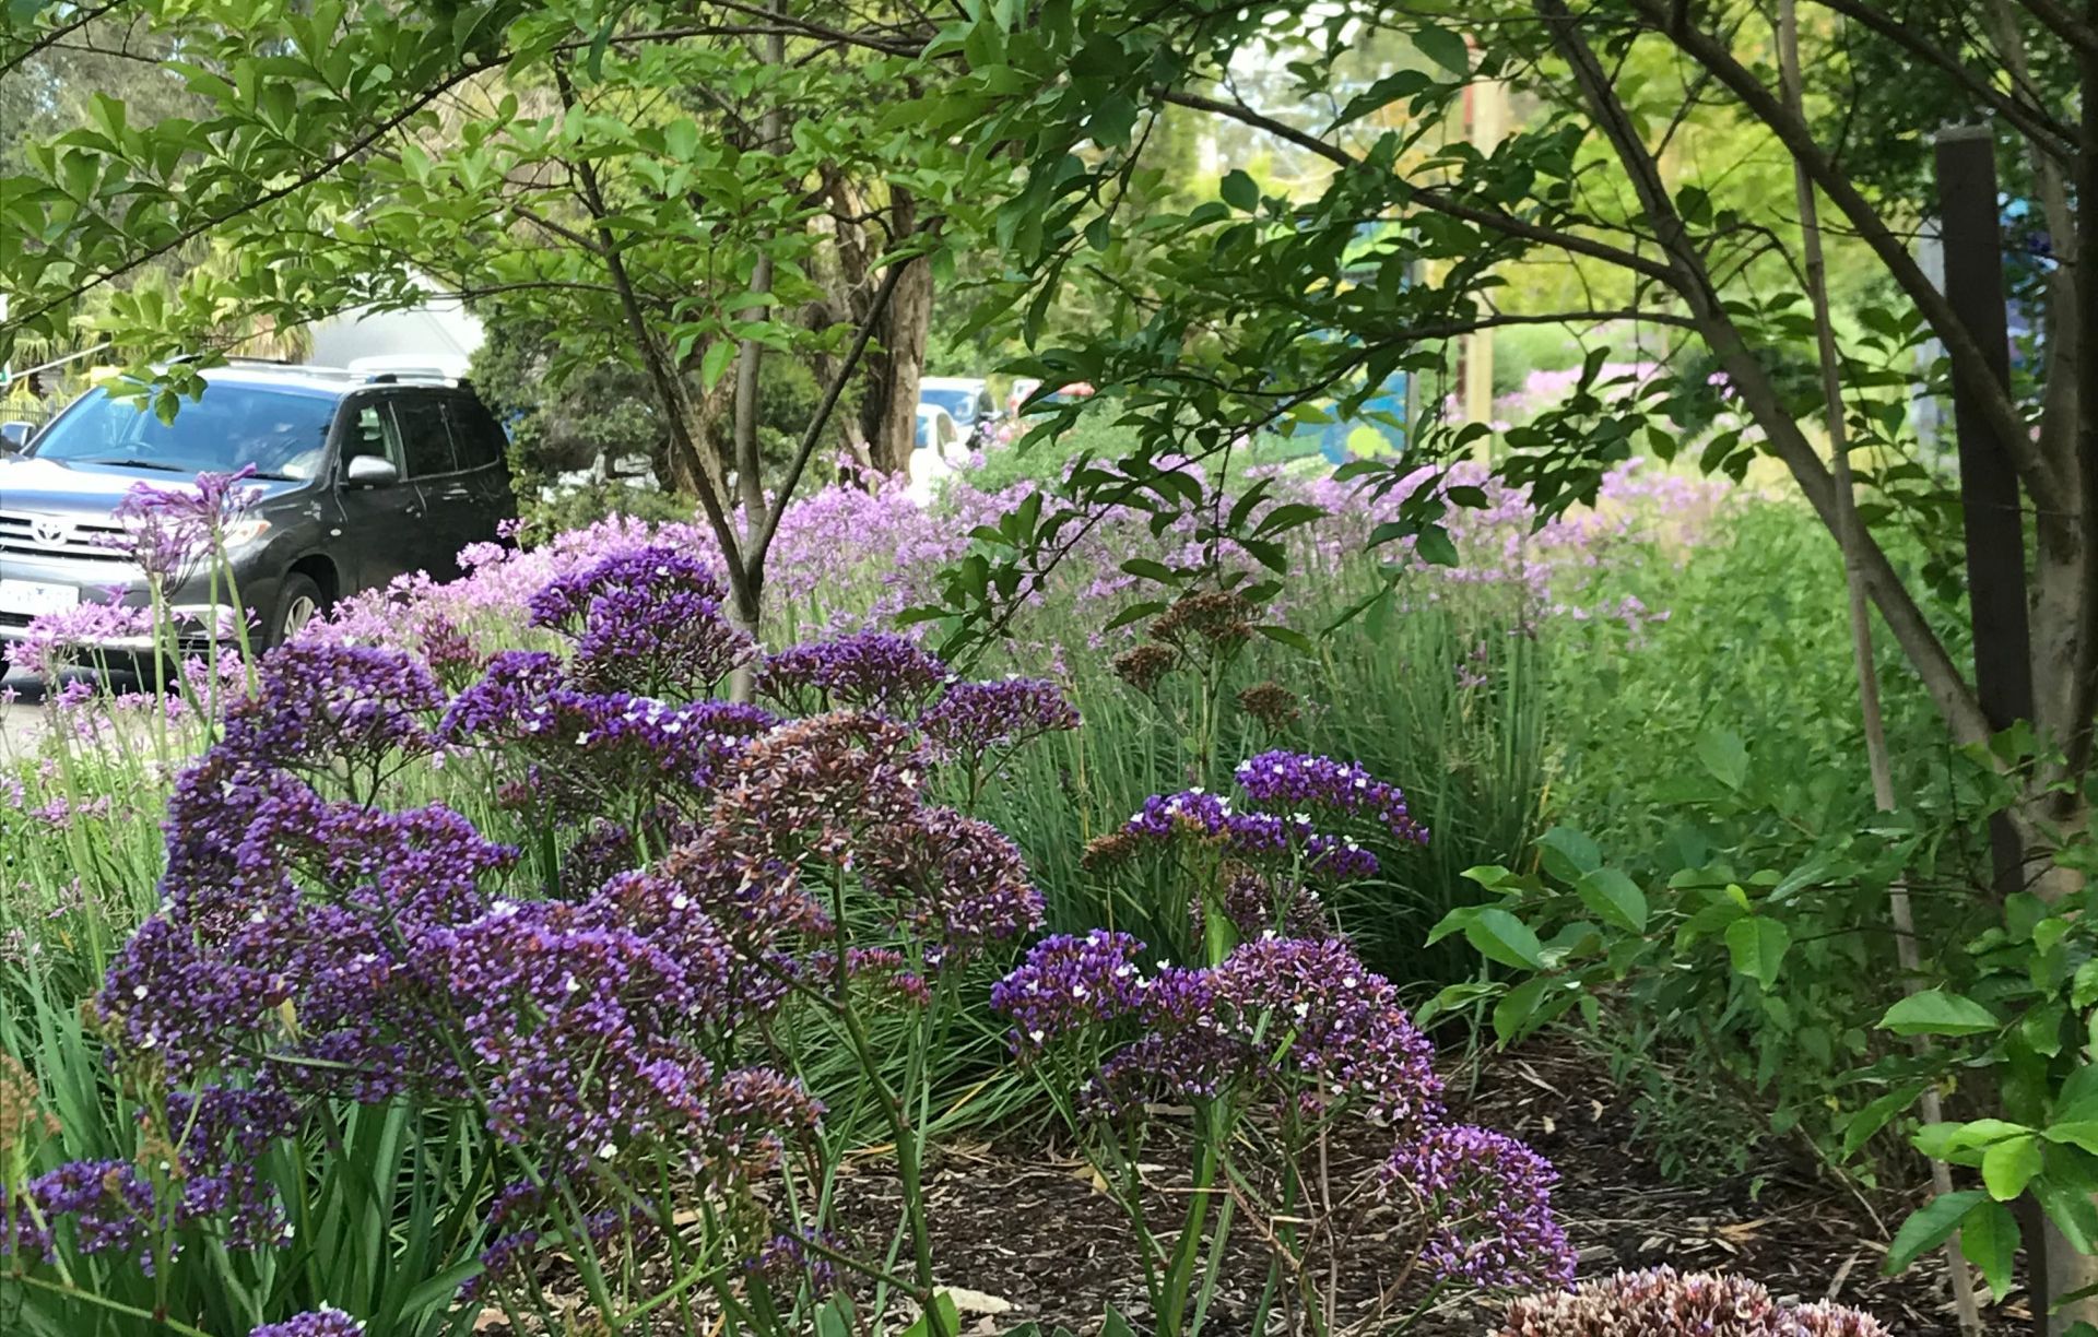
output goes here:
[{"label": "faded pinkish-brown flower head at the bottom edge, above mulch", "polygon": [[1869,1314],[1832,1303],[1785,1306],[1746,1276],[1618,1272],[1508,1306],[1494,1337],[1888,1337]]}]

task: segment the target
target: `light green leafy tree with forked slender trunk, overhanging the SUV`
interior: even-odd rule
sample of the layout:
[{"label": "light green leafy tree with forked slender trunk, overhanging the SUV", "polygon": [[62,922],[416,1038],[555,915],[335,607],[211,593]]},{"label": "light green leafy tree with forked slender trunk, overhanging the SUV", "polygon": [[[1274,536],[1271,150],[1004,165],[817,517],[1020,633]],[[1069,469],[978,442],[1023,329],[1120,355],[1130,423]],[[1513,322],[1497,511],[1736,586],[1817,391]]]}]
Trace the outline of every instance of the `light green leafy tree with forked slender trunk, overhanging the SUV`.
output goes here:
[{"label": "light green leafy tree with forked slender trunk, overhanging the SUV", "polygon": [[[646,375],[671,482],[755,620],[778,507],[869,348],[885,430],[869,463],[902,463],[929,266],[980,195],[961,151],[911,126],[906,69],[929,29],[793,8],[126,0],[199,111],[141,119],[97,94],[86,126],[23,149],[0,182],[4,335],[92,312],[145,367],[216,348],[237,321],[413,306],[434,279],[558,329],[556,379],[606,363]],[[4,69],[92,19],[17,15]],[[134,281],[201,243],[229,262],[178,266],[172,289]],[[898,289],[915,327],[892,319]],[[730,375],[741,352],[753,400],[766,350],[829,373],[770,501]],[[894,428],[900,360],[911,402]],[[149,377],[168,411],[187,375]]]}]

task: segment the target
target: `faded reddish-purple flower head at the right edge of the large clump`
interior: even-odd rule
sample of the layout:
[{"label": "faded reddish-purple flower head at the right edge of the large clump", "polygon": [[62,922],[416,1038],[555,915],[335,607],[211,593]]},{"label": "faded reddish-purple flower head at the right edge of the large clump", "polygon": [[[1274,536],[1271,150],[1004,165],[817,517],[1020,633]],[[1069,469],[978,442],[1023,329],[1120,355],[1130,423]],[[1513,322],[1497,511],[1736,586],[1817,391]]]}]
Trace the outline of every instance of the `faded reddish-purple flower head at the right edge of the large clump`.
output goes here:
[{"label": "faded reddish-purple flower head at the right edge of the large clump", "polygon": [[988,821],[929,807],[871,832],[862,880],[896,905],[927,964],[1020,937],[1043,922],[1043,895],[1020,847]]}]

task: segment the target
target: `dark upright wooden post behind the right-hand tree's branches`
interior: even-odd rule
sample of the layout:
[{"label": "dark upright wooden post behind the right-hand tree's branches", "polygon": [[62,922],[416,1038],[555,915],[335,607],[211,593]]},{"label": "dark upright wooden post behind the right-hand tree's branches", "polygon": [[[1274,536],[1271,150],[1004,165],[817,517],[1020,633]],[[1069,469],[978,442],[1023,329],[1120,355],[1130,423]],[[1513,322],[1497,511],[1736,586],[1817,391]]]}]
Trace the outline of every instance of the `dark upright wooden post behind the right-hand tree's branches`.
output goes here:
[{"label": "dark upright wooden post behind the right-hand tree's branches", "polygon": [[[1981,344],[1989,375],[2010,386],[2010,316],[2004,302],[2004,226],[1995,197],[1995,138],[1987,126],[1939,134],[1939,239],[1945,298]],[[1974,692],[1991,729],[2033,717],[2033,637],[2025,608],[2025,513],[2006,442],[1972,396],[1953,388],[1960,438],[1960,509],[1966,516],[1968,610],[1974,620]],[[2025,851],[1997,817],[1989,828],[1997,893],[2025,886]]]}]

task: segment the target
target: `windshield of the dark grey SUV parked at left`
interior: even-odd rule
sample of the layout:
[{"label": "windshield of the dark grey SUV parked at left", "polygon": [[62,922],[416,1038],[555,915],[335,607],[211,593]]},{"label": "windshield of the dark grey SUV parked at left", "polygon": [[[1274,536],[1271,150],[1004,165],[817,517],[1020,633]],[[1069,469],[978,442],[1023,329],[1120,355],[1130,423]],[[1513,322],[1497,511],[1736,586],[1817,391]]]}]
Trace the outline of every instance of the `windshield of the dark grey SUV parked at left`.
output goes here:
[{"label": "windshield of the dark grey SUV parked at left", "polygon": [[164,423],[136,400],[97,390],[50,423],[36,457],[162,474],[254,465],[256,478],[313,478],[334,417],[336,402],[325,396],[218,383]]}]

